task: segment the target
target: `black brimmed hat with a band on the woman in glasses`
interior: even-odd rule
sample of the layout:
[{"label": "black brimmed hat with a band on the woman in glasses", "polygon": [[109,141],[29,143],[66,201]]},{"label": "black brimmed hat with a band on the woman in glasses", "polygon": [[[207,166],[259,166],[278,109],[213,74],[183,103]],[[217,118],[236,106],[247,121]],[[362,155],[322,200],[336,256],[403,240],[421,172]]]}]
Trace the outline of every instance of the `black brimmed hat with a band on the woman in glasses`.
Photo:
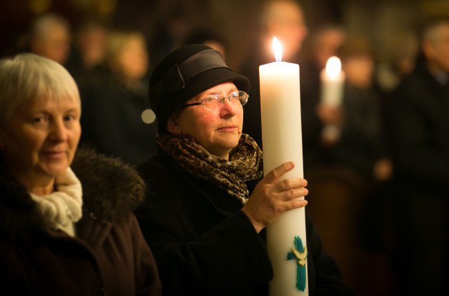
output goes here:
[{"label": "black brimmed hat with a band on the woman in glasses", "polygon": [[191,44],[166,55],[151,74],[149,100],[157,116],[158,130],[166,131],[169,115],[195,95],[231,81],[249,92],[249,80],[232,71],[222,55],[209,46]]}]

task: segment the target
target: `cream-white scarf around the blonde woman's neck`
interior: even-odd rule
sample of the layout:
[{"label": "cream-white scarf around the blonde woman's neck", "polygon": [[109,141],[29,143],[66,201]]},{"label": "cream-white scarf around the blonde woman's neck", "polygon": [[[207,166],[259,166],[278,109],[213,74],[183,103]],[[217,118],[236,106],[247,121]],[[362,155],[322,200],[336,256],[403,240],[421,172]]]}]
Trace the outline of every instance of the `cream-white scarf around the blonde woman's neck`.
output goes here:
[{"label": "cream-white scarf around the blonde woman's neck", "polygon": [[71,237],[75,237],[73,223],[82,217],[82,185],[68,167],[62,176],[56,178],[55,188],[55,192],[47,195],[39,196],[32,193],[30,195],[51,228],[64,230]]}]

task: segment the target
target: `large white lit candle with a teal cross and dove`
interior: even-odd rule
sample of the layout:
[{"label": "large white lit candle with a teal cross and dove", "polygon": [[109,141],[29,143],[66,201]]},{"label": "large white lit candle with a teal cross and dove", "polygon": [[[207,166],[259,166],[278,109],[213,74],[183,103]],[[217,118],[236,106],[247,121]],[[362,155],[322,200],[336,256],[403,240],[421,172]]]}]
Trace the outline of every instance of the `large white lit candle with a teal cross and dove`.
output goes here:
[{"label": "large white lit candle with a teal cross and dove", "polygon": [[[274,47],[280,47],[276,42],[274,38]],[[303,178],[299,66],[273,62],[260,66],[259,75],[264,173],[293,161],[294,169],[283,178]],[[307,260],[300,260],[307,255],[305,246],[303,207],[281,214],[267,227],[267,249],[274,269],[271,296],[308,295]]]}]

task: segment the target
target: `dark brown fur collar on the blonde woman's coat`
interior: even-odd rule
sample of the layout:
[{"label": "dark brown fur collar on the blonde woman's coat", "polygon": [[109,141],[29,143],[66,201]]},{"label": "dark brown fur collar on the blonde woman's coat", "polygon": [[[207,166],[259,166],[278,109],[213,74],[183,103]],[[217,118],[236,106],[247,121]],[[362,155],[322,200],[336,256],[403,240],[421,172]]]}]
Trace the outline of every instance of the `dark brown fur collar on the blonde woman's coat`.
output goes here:
[{"label": "dark brown fur collar on the blonde woman's coat", "polygon": [[[144,181],[120,160],[78,149],[71,168],[82,183],[84,207],[98,219],[116,221],[144,200]],[[26,188],[0,168],[0,235],[30,234],[43,225]]]}]

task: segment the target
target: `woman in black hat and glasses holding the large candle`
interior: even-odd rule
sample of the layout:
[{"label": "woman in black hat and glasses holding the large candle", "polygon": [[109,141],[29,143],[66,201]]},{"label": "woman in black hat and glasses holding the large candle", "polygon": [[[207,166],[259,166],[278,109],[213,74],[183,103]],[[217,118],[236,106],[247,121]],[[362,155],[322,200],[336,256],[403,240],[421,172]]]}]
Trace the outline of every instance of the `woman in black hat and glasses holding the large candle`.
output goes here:
[{"label": "woman in black hat and glasses holding the large candle", "polygon": [[[304,179],[279,181],[294,164],[262,178],[262,153],[241,133],[247,91],[208,46],[173,50],[153,71],[160,155],[140,166],[149,192],[137,219],[164,295],[267,295],[265,227],[307,203]],[[308,215],[306,225],[311,295],[350,295]]]}]

